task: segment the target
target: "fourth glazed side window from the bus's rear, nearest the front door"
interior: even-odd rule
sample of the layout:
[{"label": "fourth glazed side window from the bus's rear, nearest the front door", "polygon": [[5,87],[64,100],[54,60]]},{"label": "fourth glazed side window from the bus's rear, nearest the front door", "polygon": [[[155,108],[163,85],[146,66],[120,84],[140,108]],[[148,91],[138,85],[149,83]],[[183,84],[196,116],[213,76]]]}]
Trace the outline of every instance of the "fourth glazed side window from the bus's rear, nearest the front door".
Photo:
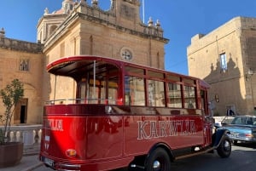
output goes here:
[{"label": "fourth glazed side window from the bus's rear, nearest the front door", "polygon": [[195,109],[195,87],[184,86],[184,107]]}]

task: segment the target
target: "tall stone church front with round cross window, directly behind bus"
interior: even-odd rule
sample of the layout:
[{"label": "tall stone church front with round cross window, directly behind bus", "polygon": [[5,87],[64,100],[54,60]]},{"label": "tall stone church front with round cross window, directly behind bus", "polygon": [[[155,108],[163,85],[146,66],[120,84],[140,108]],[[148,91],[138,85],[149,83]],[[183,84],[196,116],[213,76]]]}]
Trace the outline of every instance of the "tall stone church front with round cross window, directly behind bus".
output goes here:
[{"label": "tall stone church front with round cross window, directly behind bus", "polygon": [[[72,7],[66,10],[68,13],[44,14],[38,23],[38,37],[44,39],[38,41],[44,43],[45,64],[63,56],[92,54],[164,69],[164,47],[168,39],[163,37],[160,22],[150,19],[148,25],[143,24],[138,0],[111,2],[110,9],[104,11],[98,7],[98,1],[91,1],[91,5],[67,1],[72,3],[68,5]],[[53,20],[61,17],[63,20],[54,25]],[[74,97],[73,80],[47,73],[44,80],[44,92],[49,91],[45,100]],[[58,91],[54,91],[55,82]],[[63,97],[67,89],[70,91]]]}]

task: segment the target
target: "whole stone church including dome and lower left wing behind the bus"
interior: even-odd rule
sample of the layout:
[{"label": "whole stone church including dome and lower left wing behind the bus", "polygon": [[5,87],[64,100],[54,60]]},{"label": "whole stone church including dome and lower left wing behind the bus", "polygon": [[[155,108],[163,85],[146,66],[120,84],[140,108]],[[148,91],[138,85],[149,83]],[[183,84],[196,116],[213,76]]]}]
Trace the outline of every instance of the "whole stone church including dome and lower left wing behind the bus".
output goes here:
[{"label": "whole stone church including dome and lower left wing behind the bus", "polygon": [[45,9],[38,21],[38,43],[9,39],[3,29],[0,31],[0,88],[14,78],[20,79],[25,88],[25,96],[15,110],[15,124],[42,123],[44,102],[58,99],[55,83],[59,92],[68,89],[65,95],[74,97],[73,80],[49,75],[45,70],[58,58],[92,54],[164,69],[169,40],[163,35],[160,21],[150,18],[144,24],[139,0],[111,0],[108,10],[98,3],[63,0],[61,9]]}]

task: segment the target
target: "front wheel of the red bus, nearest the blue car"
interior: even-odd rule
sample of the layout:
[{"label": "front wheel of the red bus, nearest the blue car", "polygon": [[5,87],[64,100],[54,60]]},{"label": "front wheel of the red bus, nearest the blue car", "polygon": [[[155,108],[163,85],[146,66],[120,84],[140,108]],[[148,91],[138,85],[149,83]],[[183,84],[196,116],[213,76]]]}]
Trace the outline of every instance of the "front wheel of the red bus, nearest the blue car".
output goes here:
[{"label": "front wheel of the red bus, nearest the blue car", "polygon": [[223,158],[230,157],[231,142],[227,135],[224,135],[224,139],[222,140],[220,145],[218,145],[217,152],[219,157],[223,157]]}]

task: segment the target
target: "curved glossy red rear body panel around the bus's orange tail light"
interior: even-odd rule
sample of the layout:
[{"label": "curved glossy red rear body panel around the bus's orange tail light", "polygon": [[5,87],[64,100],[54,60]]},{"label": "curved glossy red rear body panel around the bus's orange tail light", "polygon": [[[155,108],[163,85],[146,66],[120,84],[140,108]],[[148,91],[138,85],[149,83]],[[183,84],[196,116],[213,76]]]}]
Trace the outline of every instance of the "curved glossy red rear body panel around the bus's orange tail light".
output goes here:
[{"label": "curved glossy red rear body panel around the bus's orange tail light", "polygon": [[[41,153],[52,159],[90,162],[121,157],[123,152],[123,117],[92,115],[44,116]],[[77,151],[67,157],[67,151]]]}]

